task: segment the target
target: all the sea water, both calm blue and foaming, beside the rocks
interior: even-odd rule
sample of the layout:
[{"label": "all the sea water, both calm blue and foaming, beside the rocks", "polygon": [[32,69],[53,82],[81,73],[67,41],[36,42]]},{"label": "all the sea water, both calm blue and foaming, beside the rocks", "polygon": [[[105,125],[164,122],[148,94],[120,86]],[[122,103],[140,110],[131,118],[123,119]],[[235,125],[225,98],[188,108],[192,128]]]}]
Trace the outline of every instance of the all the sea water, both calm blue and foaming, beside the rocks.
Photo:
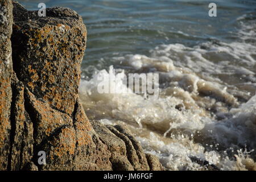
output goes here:
[{"label": "all the sea water, both calm blue and foaming, beside the rocks", "polygon": [[[126,123],[167,170],[256,170],[256,1],[44,3],[76,10],[88,29],[79,93],[90,119]],[[129,73],[158,73],[159,98],[98,93],[114,70],[119,88]]]}]

